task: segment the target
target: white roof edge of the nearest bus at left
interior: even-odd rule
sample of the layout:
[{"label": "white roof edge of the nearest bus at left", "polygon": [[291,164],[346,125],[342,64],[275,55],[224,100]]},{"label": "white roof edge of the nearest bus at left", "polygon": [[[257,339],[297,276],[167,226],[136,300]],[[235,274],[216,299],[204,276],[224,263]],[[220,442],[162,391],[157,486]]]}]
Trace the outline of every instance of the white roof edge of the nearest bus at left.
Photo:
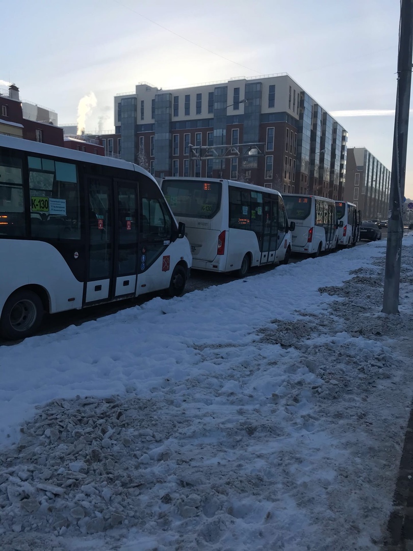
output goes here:
[{"label": "white roof edge of the nearest bus at left", "polygon": [[123,170],[133,170],[142,172],[146,176],[150,176],[156,182],[153,176],[148,171],[144,170],[134,163],[124,161],[122,159],[113,159],[103,155],[94,155],[93,153],[85,153],[75,149],[60,147],[59,145],[50,145],[47,143],[34,142],[28,139],[15,138],[14,136],[4,136],[0,134],[0,147],[8,147],[10,149],[18,149],[29,153],[38,153],[40,155],[50,155],[53,157],[61,157],[62,159],[70,159],[72,161],[80,161],[83,163],[93,163],[95,165],[113,166]]}]

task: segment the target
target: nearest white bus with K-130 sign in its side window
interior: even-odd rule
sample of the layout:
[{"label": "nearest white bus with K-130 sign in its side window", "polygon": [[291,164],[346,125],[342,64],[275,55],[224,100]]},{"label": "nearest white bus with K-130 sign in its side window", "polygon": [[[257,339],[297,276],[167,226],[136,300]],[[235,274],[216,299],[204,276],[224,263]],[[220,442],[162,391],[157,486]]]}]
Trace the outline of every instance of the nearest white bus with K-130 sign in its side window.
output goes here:
[{"label": "nearest white bus with K-130 sign in its side window", "polygon": [[62,312],[167,289],[192,257],[162,192],[126,161],[0,136],[0,335]]}]

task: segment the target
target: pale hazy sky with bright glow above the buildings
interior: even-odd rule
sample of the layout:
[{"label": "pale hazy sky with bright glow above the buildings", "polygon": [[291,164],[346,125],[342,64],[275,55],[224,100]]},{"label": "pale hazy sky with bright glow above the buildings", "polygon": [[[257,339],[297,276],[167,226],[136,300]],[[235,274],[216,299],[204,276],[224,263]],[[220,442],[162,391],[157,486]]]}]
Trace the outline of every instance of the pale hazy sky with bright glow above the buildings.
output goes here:
[{"label": "pale hazy sky with bright glow above the buildings", "polygon": [[[23,0],[6,3],[1,82],[86,130],[112,129],[113,96],[139,82],[170,89],[289,73],[366,147],[392,165],[400,3],[397,0]],[[7,21],[7,24],[4,22]],[[411,132],[410,132],[411,134]],[[406,196],[413,197],[409,138]]]}]

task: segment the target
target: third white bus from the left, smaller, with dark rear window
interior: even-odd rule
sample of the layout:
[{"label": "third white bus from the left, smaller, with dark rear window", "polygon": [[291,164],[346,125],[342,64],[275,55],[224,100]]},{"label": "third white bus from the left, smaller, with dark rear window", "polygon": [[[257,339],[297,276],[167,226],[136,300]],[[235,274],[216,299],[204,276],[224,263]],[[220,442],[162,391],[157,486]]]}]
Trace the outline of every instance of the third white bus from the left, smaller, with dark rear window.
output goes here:
[{"label": "third white bus from the left, smaller, with dark rear window", "polygon": [[292,251],[316,258],[322,251],[336,249],[338,223],[333,199],[287,193],[282,197],[289,220],[295,222]]}]

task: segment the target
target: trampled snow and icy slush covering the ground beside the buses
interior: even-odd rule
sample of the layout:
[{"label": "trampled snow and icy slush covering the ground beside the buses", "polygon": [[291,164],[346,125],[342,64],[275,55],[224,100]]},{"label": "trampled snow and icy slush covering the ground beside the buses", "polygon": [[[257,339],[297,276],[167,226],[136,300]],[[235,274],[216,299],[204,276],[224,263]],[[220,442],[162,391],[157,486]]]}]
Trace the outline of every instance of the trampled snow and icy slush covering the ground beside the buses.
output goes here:
[{"label": "trampled snow and icy slush covering the ground beside the buses", "polygon": [[378,550],[410,414],[385,241],[0,347],[2,551]]}]

